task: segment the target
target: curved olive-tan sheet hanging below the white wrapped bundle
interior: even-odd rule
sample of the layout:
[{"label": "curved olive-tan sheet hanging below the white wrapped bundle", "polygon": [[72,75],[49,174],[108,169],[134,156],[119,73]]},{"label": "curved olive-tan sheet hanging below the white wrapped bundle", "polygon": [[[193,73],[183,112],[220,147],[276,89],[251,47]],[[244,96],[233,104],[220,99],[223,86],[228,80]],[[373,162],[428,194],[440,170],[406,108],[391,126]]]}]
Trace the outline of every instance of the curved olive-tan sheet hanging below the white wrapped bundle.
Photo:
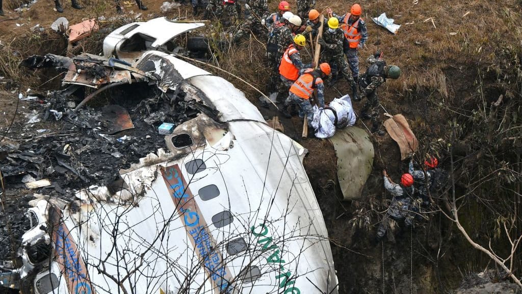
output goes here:
[{"label": "curved olive-tan sheet hanging below the white wrapped bundle", "polygon": [[360,199],[373,166],[373,143],[368,133],[347,127],[338,129],[329,140],[337,153],[337,177],[344,199]]}]

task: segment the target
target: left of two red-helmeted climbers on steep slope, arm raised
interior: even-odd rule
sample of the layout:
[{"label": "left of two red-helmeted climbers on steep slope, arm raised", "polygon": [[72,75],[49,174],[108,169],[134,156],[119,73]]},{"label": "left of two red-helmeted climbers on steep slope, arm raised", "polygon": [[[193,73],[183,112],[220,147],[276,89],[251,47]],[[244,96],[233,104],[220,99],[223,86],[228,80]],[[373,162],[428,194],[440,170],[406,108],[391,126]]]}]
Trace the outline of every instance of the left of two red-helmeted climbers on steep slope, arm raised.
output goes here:
[{"label": "left of two red-helmeted climbers on steep slope, arm raised", "polygon": [[400,184],[392,182],[385,170],[383,171],[383,178],[384,188],[392,194],[393,198],[377,229],[377,241],[382,240],[386,235],[390,226],[390,218],[396,221],[404,220],[406,227],[409,228],[413,225],[416,212],[418,212],[418,209],[413,205],[413,177],[410,174],[403,174],[400,177]]}]

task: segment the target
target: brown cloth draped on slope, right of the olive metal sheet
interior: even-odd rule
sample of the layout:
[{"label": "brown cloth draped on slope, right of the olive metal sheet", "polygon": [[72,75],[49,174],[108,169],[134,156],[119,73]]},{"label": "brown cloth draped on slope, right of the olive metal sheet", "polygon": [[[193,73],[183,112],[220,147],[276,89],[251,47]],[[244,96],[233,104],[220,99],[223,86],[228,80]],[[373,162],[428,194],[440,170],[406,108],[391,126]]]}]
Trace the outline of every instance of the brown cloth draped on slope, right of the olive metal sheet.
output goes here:
[{"label": "brown cloth draped on slope, right of the olive metal sheet", "polygon": [[411,153],[419,149],[419,142],[410,129],[408,121],[401,114],[394,115],[384,121],[386,131],[399,144],[400,160],[407,159]]}]

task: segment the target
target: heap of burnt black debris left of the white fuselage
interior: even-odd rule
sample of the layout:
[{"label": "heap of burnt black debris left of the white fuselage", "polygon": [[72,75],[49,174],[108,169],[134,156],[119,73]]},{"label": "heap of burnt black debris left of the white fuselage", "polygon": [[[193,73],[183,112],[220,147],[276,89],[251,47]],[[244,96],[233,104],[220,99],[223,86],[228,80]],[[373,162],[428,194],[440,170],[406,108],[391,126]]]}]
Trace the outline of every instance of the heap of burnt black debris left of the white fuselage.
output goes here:
[{"label": "heap of burnt black debris left of the white fuselage", "polygon": [[[120,169],[131,167],[159,148],[167,149],[164,135],[158,133],[161,123],[177,126],[200,113],[197,103],[186,101],[182,90],[163,93],[147,83],[113,88],[76,112],[67,107],[72,92],[70,89],[54,91],[45,105],[33,104],[31,110],[36,110],[44,118],[41,123],[50,129],[47,133],[0,144],[5,193],[27,195],[10,199],[7,211],[0,212],[0,261],[12,260],[16,255],[13,248],[19,247],[21,235],[28,229],[25,215],[32,193],[72,200],[80,188],[114,186],[120,178]],[[77,103],[84,93],[76,91],[75,94]],[[51,110],[62,112],[63,117],[56,120]],[[122,113],[126,127],[115,127],[120,122],[115,121],[114,116],[120,117]],[[49,179],[51,186],[26,189],[27,180],[40,179]]]}]

